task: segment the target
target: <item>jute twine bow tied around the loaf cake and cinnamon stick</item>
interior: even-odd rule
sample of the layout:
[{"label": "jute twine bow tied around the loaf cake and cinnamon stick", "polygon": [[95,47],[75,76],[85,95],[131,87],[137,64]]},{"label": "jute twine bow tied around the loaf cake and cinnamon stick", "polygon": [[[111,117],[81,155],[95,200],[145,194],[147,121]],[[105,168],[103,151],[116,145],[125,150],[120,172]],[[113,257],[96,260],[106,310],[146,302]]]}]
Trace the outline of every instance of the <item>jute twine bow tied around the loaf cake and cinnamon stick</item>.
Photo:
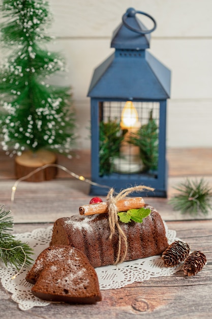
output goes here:
[{"label": "jute twine bow tied around the loaf cake and cinnamon stick", "polygon": [[[117,215],[118,209],[117,209],[116,203],[118,200],[125,198],[131,193],[141,192],[141,191],[154,191],[154,189],[143,186],[143,185],[138,185],[135,187],[127,188],[121,191],[120,193],[118,193],[118,195],[116,196],[113,196],[113,192],[114,192],[113,188],[111,188],[110,191],[108,192],[107,205],[108,205],[108,215],[109,215],[108,221],[110,226],[109,240],[112,239],[112,236],[115,233],[115,228],[117,229],[117,232],[118,232],[118,253],[117,253],[117,258],[114,264],[121,263],[125,260],[125,257],[127,255],[127,248],[128,248],[126,234],[124,233],[124,231],[122,230],[122,228],[120,227],[118,223],[118,215]],[[120,250],[122,245],[124,247],[123,248],[124,253],[123,253],[123,256],[120,256]]]}]

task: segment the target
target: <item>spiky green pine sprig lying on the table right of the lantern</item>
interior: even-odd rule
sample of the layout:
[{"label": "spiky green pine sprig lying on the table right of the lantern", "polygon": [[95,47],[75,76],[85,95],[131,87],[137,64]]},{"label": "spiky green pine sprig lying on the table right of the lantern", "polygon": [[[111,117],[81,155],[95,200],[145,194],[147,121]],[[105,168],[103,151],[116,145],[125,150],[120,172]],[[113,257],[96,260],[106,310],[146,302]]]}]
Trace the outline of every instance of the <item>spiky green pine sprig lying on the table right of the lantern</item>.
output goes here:
[{"label": "spiky green pine sprig lying on the table right of the lantern", "polygon": [[208,211],[212,209],[211,188],[203,178],[200,181],[187,178],[174,189],[178,193],[169,200],[169,203],[175,210],[181,211],[181,214],[197,215],[198,212],[202,212],[207,215]]}]

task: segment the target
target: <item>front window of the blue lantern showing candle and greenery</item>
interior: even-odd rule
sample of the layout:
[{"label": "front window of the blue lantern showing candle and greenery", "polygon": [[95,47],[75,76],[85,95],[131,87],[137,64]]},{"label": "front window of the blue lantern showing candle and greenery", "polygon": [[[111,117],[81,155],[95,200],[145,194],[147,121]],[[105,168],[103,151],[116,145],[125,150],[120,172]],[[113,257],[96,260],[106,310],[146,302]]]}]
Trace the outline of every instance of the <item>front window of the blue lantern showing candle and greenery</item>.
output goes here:
[{"label": "front window of the blue lantern showing candle and greenery", "polygon": [[99,115],[99,175],[157,178],[160,102],[102,101]]}]

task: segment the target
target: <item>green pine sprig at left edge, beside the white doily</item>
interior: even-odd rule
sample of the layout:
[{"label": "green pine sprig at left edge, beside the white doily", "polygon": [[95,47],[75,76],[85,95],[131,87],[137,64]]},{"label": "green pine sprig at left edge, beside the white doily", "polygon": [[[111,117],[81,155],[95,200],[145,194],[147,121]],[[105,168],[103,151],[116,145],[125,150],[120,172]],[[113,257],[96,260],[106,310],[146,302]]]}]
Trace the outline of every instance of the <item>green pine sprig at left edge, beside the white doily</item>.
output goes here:
[{"label": "green pine sprig at left edge, beside the white doily", "polygon": [[33,249],[28,244],[22,243],[9,231],[13,227],[13,218],[10,216],[11,211],[0,206],[0,259],[6,267],[10,264],[17,270],[23,266],[30,265],[33,259]]}]

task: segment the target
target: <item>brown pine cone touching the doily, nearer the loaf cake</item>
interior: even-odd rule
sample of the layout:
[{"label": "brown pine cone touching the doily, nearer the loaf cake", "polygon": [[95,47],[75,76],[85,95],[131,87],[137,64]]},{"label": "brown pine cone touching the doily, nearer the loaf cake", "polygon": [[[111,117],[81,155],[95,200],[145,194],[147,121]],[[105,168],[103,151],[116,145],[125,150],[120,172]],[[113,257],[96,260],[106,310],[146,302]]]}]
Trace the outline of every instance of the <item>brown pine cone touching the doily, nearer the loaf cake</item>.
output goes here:
[{"label": "brown pine cone touching the doily, nearer the loaf cake", "polygon": [[174,267],[189,256],[190,246],[187,243],[176,241],[163,252],[162,259],[167,267]]}]

